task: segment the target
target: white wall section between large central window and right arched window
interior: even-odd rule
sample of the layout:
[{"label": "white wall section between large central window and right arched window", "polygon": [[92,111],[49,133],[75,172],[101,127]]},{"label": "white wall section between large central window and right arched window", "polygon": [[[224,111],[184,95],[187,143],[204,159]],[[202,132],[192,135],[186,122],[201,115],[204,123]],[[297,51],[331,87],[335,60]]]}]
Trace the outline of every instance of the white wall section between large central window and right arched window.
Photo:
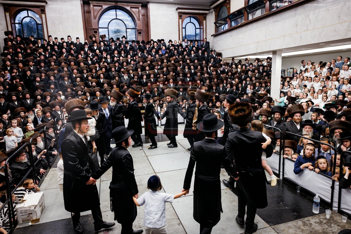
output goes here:
[{"label": "white wall section between large central window and right arched window", "polygon": [[[180,5],[150,2],[150,27],[151,38],[154,40],[165,39],[166,43],[169,39],[180,40],[179,38],[179,19],[177,7],[192,7],[198,9],[210,9],[209,6],[202,5]],[[213,24],[214,21],[208,21],[207,24]],[[181,25],[180,25],[181,28]],[[211,31],[212,32],[212,31]],[[210,35],[207,33],[207,35]]]}]

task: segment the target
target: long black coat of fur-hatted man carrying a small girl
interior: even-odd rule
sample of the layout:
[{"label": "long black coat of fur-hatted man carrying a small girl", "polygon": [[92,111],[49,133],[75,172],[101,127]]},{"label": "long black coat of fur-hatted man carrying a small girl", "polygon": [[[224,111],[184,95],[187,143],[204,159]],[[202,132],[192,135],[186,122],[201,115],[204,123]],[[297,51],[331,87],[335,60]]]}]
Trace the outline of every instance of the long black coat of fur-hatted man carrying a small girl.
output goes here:
[{"label": "long black coat of fur-hatted man carrying a small girl", "polygon": [[[262,145],[266,142],[262,133],[240,128],[229,133],[225,144],[225,152],[234,162],[235,167],[227,170],[232,176],[239,176],[237,180],[238,196],[245,197],[247,203],[256,208],[267,207],[266,175],[264,173],[261,155]],[[264,149],[267,157],[273,153],[272,145]],[[237,174],[239,172],[239,174]]]}]

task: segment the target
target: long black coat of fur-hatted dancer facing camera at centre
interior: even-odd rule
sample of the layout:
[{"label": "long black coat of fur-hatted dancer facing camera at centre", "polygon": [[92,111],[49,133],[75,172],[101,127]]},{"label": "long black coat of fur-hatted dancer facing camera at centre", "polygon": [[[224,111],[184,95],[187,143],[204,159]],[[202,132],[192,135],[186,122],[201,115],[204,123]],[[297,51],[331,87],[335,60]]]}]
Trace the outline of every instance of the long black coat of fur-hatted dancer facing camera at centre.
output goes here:
[{"label": "long black coat of fur-hatted dancer facing camera at centre", "polygon": [[161,114],[161,118],[166,117],[163,134],[169,137],[178,136],[178,114],[185,118],[185,113],[181,110],[177,102],[170,102],[166,108],[165,113]]}]

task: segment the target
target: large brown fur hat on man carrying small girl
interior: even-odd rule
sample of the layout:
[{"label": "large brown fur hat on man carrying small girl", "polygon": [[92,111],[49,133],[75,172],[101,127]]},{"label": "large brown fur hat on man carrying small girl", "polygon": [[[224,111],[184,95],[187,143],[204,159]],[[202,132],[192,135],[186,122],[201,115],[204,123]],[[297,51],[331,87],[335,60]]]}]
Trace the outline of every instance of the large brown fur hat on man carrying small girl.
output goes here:
[{"label": "large brown fur hat on man carrying small girl", "polygon": [[245,126],[253,120],[253,112],[249,103],[231,104],[228,114],[230,121],[239,126]]}]

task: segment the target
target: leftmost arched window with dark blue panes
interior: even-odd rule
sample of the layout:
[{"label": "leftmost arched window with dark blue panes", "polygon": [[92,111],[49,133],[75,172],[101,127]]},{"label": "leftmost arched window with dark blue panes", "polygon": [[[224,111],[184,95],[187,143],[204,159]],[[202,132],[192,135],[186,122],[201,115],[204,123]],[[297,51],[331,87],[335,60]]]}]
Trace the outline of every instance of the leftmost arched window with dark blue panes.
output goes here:
[{"label": "leftmost arched window with dark blue panes", "polygon": [[30,35],[33,35],[34,39],[44,38],[40,16],[31,10],[24,10],[16,15],[15,28],[16,34],[25,38],[29,38]]}]

